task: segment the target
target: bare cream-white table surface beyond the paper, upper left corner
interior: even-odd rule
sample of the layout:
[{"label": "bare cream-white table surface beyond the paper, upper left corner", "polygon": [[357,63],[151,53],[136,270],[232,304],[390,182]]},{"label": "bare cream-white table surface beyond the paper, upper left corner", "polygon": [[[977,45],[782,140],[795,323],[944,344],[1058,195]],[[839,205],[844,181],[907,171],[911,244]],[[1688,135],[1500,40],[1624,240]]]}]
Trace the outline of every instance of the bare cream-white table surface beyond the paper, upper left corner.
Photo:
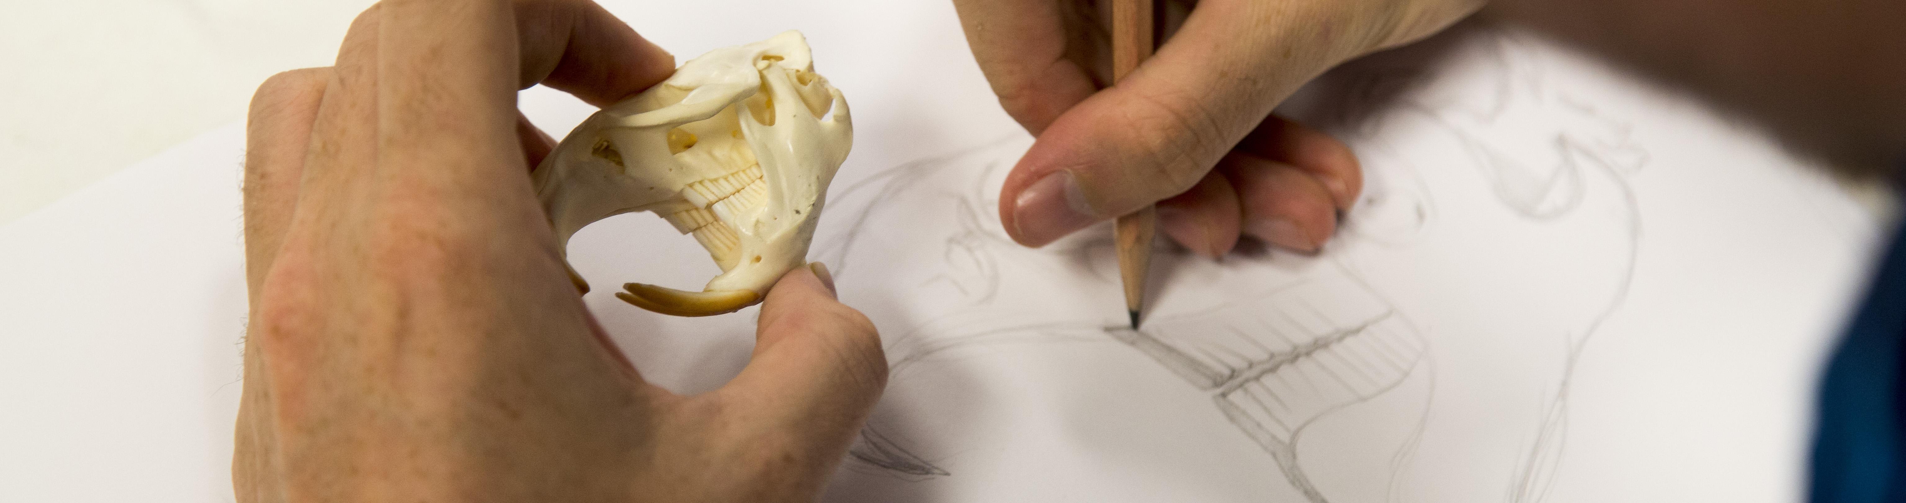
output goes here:
[{"label": "bare cream-white table surface beyond the paper, upper left corner", "polygon": [[244,120],[372,0],[27,0],[0,15],[0,223]]}]

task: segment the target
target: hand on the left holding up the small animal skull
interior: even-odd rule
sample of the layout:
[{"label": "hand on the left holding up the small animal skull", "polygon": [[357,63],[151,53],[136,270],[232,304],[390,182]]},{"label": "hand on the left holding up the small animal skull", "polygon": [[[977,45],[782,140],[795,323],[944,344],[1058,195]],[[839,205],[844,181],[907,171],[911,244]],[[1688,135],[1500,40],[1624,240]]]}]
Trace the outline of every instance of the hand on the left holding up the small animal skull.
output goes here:
[{"label": "hand on the left holding up the small animal skull", "polygon": [[[768,293],[726,387],[642,381],[530,189],[547,84],[608,105],[673,57],[585,0],[364,11],[252,101],[238,501],[808,501],[886,379],[825,269]],[[686,335],[686,333],[684,333]]]}]

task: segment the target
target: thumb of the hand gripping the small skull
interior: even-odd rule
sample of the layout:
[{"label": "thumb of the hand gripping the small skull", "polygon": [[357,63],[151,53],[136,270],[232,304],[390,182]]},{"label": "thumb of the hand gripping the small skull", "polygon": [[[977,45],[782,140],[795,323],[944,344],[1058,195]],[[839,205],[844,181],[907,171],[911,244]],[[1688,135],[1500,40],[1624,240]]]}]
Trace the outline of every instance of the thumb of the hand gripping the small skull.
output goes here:
[{"label": "thumb of the hand gripping the small skull", "polygon": [[[835,299],[821,263],[781,276],[760,303],[755,354],[720,392],[766,427],[839,461],[886,387],[886,354],[865,314]],[[829,461],[831,459],[831,461]]]}]

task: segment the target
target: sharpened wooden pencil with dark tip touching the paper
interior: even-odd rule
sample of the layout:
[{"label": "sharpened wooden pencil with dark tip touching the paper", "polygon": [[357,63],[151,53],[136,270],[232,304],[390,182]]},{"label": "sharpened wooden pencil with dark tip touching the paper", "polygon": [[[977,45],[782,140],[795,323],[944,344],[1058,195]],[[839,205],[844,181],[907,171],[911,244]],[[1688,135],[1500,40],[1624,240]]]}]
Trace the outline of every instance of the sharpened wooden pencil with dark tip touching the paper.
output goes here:
[{"label": "sharpened wooden pencil with dark tip touching the paper", "polygon": [[[1111,80],[1125,80],[1138,63],[1151,57],[1151,0],[1111,2]],[[1123,215],[1111,229],[1119,255],[1119,280],[1125,282],[1125,312],[1138,330],[1138,312],[1146,309],[1146,271],[1151,267],[1151,236],[1159,213],[1146,206]]]}]

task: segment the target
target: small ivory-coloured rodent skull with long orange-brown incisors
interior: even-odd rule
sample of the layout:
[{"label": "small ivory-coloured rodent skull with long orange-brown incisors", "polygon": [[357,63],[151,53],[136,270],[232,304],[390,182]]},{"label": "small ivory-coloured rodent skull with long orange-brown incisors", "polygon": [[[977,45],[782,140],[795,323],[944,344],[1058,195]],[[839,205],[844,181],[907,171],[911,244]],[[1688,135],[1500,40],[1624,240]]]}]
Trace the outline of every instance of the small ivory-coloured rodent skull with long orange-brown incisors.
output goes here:
[{"label": "small ivory-coloured rodent skull with long orange-brown incisors", "polygon": [[[692,232],[722,269],[703,292],[625,284],[616,297],[709,316],[755,305],[806,263],[827,183],[852,143],[846,99],[814,72],[806,38],[787,30],[690,59],[589,116],[532,177],[558,246],[627,211]],[[589,292],[574,269],[570,278]]]}]

